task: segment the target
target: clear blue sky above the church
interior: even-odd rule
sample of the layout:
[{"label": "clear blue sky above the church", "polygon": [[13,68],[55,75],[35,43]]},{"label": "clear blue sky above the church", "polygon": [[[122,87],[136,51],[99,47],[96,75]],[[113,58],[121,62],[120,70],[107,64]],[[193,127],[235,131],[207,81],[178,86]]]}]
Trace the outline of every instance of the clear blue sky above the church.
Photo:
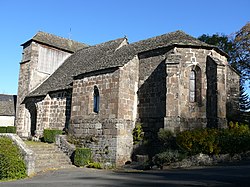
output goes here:
[{"label": "clear blue sky above the church", "polygon": [[175,30],[230,35],[250,21],[249,0],[1,0],[0,93],[17,94],[20,44],[45,31],[89,45]]}]

